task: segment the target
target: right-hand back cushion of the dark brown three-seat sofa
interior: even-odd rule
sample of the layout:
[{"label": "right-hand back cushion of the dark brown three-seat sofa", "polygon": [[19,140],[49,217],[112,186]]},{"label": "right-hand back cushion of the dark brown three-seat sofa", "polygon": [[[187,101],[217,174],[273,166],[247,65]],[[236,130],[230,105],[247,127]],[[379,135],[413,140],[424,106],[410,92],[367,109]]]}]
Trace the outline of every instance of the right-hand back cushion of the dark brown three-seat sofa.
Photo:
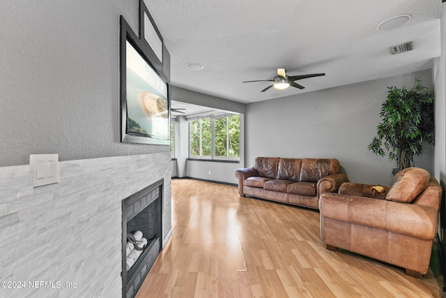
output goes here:
[{"label": "right-hand back cushion of the dark brown three-seat sofa", "polygon": [[336,158],[305,158],[300,167],[300,182],[317,182],[322,177],[339,173],[339,161]]}]

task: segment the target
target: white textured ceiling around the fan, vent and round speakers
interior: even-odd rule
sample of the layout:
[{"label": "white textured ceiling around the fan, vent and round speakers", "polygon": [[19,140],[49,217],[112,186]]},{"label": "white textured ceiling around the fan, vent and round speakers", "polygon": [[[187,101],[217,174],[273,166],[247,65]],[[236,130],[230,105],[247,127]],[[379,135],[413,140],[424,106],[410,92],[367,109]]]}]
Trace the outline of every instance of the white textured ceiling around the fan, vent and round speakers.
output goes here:
[{"label": "white textured ceiling around the fan, vent and round speakers", "polygon": [[[171,84],[252,103],[433,66],[440,56],[440,0],[145,0],[171,54]],[[390,31],[378,24],[412,18]],[[413,42],[413,50],[389,48]],[[188,63],[203,70],[188,70]],[[325,73],[297,81],[305,89],[260,92],[277,68],[287,75]],[[179,98],[177,98],[179,100]]]}]

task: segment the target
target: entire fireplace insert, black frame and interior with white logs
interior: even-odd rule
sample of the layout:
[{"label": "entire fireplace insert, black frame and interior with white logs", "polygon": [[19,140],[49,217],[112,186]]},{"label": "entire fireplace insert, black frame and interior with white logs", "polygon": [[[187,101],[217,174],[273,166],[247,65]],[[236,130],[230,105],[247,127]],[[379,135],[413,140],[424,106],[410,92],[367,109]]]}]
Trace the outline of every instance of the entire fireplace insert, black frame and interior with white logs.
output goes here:
[{"label": "entire fireplace insert, black frame and interior with white logs", "polygon": [[123,297],[132,298],[161,251],[164,179],[122,201]]}]

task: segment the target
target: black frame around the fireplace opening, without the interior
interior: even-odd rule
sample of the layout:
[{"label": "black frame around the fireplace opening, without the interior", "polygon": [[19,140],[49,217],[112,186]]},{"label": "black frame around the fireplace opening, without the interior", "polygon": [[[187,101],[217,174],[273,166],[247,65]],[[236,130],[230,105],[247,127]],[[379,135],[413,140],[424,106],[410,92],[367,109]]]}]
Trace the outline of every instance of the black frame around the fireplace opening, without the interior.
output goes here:
[{"label": "black frame around the fireplace opening, without the interior", "polygon": [[[155,197],[151,195],[153,191],[156,191],[157,188],[160,189],[159,194]],[[134,204],[134,202],[137,202],[140,200],[140,198],[144,198],[145,196],[151,196],[149,198],[146,206],[141,206],[139,204]],[[148,271],[151,269],[153,262],[155,262],[155,259],[157,255],[162,250],[162,210],[163,208],[163,198],[164,198],[164,179],[160,179],[156,181],[155,183],[151,184],[150,186],[147,186],[146,188],[143,188],[141,191],[138,191],[137,193],[134,193],[133,195],[130,195],[128,198],[125,198],[122,201],[122,288],[123,288],[123,295],[122,297],[128,298],[128,297],[134,297],[136,293],[138,292],[139,288],[141,287],[141,284],[144,282],[144,278],[146,278]],[[144,210],[148,205],[152,204],[156,200],[160,200],[159,207],[160,207],[160,216],[156,223],[155,230],[159,231],[160,234],[156,234],[155,237],[153,237],[152,241],[148,239],[148,245],[144,249],[143,253],[139,256],[137,262],[134,263],[132,268],[127,271],[126,267],[126,246],[127,246],[127,223],[130,221],[136,214],[138,214],[140,211]],[[133,206],[132,206],[133,205]],[[134,214],[128,214],[128,211],[125,211],[129,207],[134,208]],[[129,231],[130,232],[130,231]],[[154,255],[155,253],[155,255]],[[136,275],[135,271],[137,271],[138,267],[148,267],[146,269],[146,272],[142,274],[141,276],[138,276],[137,281],[134,282],[133,289],[130,289],[128,287],[128,278],[132,277],[134,274]],[[145,269],[145,268],[144,268]],[[145,271],[145,270],[144,270]],[[130,287],[131,288],[131,287]]]}]

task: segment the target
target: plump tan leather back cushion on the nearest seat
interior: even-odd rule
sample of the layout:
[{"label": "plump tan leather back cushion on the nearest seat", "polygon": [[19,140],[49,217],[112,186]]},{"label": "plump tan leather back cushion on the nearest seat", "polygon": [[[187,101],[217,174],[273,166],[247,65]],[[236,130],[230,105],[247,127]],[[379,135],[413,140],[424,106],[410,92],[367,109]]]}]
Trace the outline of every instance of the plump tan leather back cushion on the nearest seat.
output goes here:
[{"label": "plump tan leather back cushion on the nearest seat", "polygon": [[392,179],[385,200],[411,203],[429,184],[431,174],[420,167],[406,167]]}]

